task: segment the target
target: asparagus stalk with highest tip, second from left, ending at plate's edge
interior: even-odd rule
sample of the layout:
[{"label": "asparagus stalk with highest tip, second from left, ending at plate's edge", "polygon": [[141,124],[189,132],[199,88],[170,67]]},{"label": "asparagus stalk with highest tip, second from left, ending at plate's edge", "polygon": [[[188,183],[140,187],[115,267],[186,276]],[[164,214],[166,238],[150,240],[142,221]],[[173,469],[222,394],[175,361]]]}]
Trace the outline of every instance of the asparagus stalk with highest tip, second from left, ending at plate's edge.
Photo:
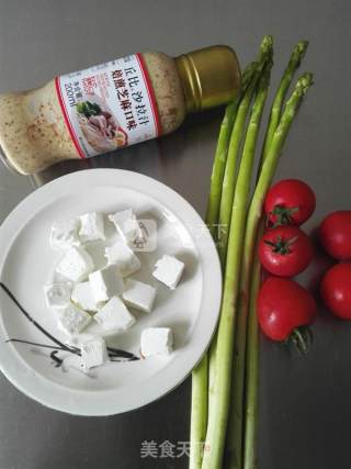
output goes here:
[{"label": "asparagus stalk with highest tip, second from left, ending at plate's edge", "polygon": [[250,104],[257,88],[257,82],[261,76],[262,69],[268,58],[271,56],[272,46],[272,36],[264,36],[260,46],[260,56],[258,63],[256,64],[254,77],[248,86],[247,92],[244,94],[240,101],[230,136],[228,158],[223,180],[219,208],[219,257],[223,264],[225,263],[228,247],[228,235],[230,231],[231,206],[235,191],[237,159],[239,155],[239,149],[242,142],[245,125],[250,110]]}]

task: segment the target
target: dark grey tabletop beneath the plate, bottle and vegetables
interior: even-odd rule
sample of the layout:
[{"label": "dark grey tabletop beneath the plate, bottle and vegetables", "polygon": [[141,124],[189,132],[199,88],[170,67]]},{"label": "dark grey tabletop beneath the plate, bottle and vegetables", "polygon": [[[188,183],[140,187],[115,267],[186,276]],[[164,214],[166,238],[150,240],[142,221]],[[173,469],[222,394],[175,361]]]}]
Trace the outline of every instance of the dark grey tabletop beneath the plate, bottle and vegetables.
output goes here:
[{"label": "dark grey tabletop beneath the plate, bottle and vegetables", "polygon": [[[159,49],[177,55],[205,45],[236,47],[250,60],[263,34],[275,37],[276,83],[292,45],[310,40],[304,64],[316,83],[287,142],[279,178],[316,190],[313,232],[331,210],[350,208],[351,4],[347,0],[0,0],[0,92],[54,75]],[[272,88],[273,88],[272,87]],[[0,222],[36,187],[90,166],[136,170],[166,182],[204,213],[222,111],[191,119],[173,135],[134,148],[60,164],[26,178],[0,168]],[[301,280],[316,287],[318,256]],[[351,326],[320,306],[306,358],[261,339],[259,469],[348,469]],[[189,439],[191,381],[128,414],[86,418],[43,407],[0,377],[0,469],[186,468],[186,457],[141,459],[144,440]]]}]

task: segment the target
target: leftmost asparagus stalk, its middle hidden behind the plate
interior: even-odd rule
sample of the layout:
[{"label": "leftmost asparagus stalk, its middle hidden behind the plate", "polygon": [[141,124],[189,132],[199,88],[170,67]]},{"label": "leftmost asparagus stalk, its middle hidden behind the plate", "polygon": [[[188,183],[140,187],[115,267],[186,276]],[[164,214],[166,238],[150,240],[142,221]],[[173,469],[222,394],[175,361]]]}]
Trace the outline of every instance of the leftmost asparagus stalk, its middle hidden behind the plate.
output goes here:
[{"label": "leftmost asparagus stalk, its middle hidden behind the plate", "polygon": [[[250,64],[244,71],[241,92],[237,99],[227,105],[225,115],[220,125],[217,148],[214,158],[214,165],[211,177],[211,189],[206,211],[206,224],[210,232],[216,241],[216,226],[218,223],[219,203],[222,196],[223,178],[227,161],[228,145],[233,124],[236,118],[240,96],[246,91],[252,80],[256,64]],[[206,436],[207,428],[207,402],[208,402],[208,356],[207,353],[192,373],[192,412],[191,412],[191,450],[190,468],[201,468],[203,447],[202,444]]]}]

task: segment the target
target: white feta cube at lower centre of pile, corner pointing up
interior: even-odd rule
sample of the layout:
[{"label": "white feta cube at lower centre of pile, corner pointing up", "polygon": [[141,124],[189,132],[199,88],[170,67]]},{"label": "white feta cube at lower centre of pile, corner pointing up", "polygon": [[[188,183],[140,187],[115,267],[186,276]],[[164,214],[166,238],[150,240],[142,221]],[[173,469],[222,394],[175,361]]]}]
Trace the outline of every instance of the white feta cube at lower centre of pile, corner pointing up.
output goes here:
[{"label": "white feta cube at lower centre of pile, corner pointing up", "polygon": [[106,331],[126,331],[135,323],[135,317],[129,313],[118,297],[111,300],[94,315],[94,320]]}]

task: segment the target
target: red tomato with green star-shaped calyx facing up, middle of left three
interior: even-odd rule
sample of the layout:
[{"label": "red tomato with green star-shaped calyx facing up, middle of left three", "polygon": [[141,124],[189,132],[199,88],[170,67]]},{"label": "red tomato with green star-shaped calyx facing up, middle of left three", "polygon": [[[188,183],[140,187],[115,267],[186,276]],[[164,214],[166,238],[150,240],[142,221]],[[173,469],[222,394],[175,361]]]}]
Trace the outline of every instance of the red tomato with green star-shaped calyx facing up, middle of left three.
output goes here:
[{"label": "red tomato with green star-shaped calyx facing up, middle of left three", "polygon": [[269,272],[294,277],[306,269],[314,257],[309,237],[297,226],[268,230],[260,241],[259,257]]}]

